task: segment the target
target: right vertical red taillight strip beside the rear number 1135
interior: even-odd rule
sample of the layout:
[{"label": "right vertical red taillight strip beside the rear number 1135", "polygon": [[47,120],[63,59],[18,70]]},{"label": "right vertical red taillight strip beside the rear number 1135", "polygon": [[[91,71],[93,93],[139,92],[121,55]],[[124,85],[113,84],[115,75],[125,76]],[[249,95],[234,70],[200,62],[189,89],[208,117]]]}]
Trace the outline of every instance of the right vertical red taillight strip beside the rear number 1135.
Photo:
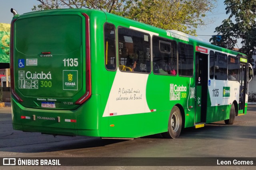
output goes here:
[{"label": "right vertical red taillight strip beside the rear number 1135", "polygon": [[89,16],[84,13],[82,15],[85,17],[86,27],[86,92],[84,96],[76,101],[76,104],[83,104],[92,95]]}]

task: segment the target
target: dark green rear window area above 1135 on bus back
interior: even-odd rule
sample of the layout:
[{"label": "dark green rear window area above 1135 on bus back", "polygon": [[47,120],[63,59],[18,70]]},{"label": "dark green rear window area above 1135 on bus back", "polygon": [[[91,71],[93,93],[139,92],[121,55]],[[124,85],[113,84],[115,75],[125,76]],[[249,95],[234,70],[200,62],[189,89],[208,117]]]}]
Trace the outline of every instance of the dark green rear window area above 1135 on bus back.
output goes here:
[{"label": "dark green rear window area above 1135 on bus back", "polygon": [[17,20],[16,49],[26,55],[42,51],[68,54],[81,47],[82,18],[77,15],[40,16]]}]

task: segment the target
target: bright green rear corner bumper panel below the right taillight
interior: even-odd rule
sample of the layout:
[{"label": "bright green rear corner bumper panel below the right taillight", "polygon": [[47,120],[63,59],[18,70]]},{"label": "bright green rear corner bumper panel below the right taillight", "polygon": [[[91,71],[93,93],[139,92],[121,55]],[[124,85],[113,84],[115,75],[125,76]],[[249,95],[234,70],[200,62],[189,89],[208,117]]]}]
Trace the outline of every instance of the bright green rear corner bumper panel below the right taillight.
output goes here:
[{"label": "bright green rear corner bumper panel below the right taillight", "polygon": [[92,95],[76,111],[78,135],[100,136],[100,112],[100,95]]}]

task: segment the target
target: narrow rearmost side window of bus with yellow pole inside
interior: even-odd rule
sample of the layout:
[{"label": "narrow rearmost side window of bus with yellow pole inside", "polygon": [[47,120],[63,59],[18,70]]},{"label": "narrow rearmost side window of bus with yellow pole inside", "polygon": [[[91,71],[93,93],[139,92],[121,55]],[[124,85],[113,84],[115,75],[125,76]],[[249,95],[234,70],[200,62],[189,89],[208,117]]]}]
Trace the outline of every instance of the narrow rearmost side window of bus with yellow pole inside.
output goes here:
[{"label": "narrow rearmost side window of bus with yellow pole inside", "polygon": [[104,25],[105,66],[107,70],[116,70],[116,28],[111,23]]}]

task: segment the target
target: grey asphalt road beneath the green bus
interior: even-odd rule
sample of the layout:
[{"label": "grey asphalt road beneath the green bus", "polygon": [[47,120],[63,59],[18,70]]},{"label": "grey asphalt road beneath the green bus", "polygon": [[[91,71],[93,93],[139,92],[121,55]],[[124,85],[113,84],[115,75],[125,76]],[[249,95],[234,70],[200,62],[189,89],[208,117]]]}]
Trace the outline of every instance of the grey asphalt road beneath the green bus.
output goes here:
[{"label": "grey asphalt road beneath the green bus", "polygon": [[[219,121],[206,127],[184,129],[178,139],[151,135],[134,140],[99,137],[65,137],[12,129],[10,107],[0,107],[0,157],[256,157],[256,105],[238,116],[234,125]],[[72,169],[255,169],[252,166],[74,166]],[[19,166],[18,169],[52,169],[51,166]],[[55,169],[70,169],[68,166]],[[0,166],[17,169],[17,166]]]}]

